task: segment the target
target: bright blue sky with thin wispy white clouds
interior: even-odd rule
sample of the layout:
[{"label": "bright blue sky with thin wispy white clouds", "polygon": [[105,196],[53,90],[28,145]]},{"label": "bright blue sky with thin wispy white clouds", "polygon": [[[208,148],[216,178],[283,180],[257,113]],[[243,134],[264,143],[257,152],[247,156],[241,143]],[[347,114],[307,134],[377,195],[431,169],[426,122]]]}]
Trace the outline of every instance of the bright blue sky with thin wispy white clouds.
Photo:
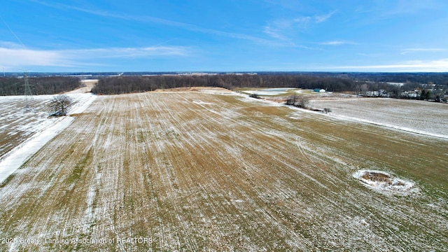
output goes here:
[{"label": "bright blue sky with thin wispy white clouds", "polygon": [[3,0],[5,71],[448,71],[448,1]]}]

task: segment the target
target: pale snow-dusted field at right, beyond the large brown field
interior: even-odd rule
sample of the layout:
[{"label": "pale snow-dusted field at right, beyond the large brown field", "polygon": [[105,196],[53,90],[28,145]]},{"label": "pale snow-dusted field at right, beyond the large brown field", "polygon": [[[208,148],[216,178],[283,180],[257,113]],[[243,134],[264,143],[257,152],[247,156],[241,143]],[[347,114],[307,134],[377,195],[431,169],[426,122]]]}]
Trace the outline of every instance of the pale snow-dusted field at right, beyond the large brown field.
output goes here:
[{"label": "pale snow-dusted field at right, beyond the large brown field", "polygon": [[316,99],[309,105],[330,108],[330,116],[373,123],[448,139],[448,104],[406,99]]}]

